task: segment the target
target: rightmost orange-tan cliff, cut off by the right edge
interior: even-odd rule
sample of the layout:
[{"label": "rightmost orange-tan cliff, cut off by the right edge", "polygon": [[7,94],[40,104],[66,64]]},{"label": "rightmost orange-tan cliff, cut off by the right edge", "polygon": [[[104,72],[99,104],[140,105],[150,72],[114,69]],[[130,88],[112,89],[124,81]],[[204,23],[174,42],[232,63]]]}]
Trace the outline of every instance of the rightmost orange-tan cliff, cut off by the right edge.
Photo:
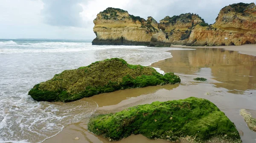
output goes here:
[{"label": "rightmost orange-tan cliff, cut off by the right edge", "polygon": [[195,26],[186,45],[220,46],[256,44],[256,6],[238,3],[221,9],[216,22]]}]

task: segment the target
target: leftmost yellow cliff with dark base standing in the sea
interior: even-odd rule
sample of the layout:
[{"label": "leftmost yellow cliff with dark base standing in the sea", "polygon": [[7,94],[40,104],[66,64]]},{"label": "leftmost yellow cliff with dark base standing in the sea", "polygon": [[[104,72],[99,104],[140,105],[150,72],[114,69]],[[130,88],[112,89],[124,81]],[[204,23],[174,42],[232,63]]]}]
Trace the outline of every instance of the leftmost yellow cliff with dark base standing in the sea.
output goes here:
[{"label": "leftmost yellow cliff with dark base standing in the sea", "polygon": [[93,20],[93,45],[149,45],[158,30],[153,17],[145,20],[119,8],[107,8]]}]

